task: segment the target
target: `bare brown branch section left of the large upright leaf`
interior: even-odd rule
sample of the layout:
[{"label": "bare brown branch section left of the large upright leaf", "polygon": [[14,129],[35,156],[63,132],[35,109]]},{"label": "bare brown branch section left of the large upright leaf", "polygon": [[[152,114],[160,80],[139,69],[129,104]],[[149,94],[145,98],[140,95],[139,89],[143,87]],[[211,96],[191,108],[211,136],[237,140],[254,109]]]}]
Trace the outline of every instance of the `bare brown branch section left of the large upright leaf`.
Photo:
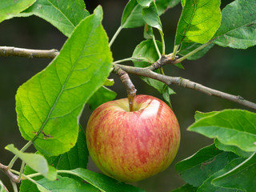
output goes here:
[{"label": "bare brown branch section left of the large upright leaf", "polygon": [[30,50],[13,46],[0,46],[0,56],[19,56],[23,58],[55,58],[58,50]]}]

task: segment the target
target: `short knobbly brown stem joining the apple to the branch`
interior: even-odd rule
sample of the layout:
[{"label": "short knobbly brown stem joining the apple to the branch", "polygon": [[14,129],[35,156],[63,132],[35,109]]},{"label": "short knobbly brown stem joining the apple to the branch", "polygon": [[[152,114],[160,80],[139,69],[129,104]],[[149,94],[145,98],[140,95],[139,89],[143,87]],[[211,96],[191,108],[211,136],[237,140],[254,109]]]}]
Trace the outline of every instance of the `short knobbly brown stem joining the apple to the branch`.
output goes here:
[{"label": "short knobbly brown stem joining the apple to the branch", "polygon": [[130,111],[134,111],[134,97],[136,95],[137,90],[133,82],[130,81],[129,75],[126,71],[122,70],[118,66],[114,66],[114,73],[118,74],[122,83],[126,86],[126,91],[128,94],[128,101],[129,101],[129,109]]}]

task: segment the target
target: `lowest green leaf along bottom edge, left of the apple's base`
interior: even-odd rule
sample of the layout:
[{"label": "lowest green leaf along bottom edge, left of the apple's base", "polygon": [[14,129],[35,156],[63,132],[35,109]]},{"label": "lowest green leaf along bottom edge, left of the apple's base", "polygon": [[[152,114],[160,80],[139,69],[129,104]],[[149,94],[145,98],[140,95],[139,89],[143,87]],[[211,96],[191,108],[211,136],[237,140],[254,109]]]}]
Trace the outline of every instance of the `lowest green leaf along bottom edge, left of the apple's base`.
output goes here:
[{"label": "lowest green leaf along bottom edge, left of the apple's base", "polygon": [[98,192],[98,189],[94,186],[83,182],[77,182],[73,178],[66,178],[58,176],[58,179],[54,182],[49,182],[46,178],[42,178],[37,182],[38,190],[42,192]]}]

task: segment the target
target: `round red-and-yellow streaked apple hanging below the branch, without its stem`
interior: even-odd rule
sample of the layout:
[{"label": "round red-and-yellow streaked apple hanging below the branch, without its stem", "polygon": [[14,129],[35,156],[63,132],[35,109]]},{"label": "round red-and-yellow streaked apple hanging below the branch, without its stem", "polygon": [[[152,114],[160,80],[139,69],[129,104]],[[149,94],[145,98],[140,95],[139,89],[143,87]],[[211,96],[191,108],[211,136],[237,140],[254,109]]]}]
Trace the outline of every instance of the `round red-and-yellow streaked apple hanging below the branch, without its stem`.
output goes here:
[{"label": "round red-and-yellow streaked apple hanging below the branch, without its stem", "polygon": [[138,182],[170,166],[178,151],[180,130],[165,102],[137,95],[132,112],[128,98],[98,106],[87,124],[86,141],[90,157],[104,174]]}]

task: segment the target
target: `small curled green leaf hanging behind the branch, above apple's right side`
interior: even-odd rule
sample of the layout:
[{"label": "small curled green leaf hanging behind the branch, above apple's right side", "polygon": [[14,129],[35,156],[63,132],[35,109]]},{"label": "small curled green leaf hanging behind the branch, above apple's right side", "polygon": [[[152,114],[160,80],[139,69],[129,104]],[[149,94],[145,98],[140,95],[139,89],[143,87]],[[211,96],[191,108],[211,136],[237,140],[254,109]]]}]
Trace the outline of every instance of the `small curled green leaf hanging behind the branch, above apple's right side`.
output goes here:
[{"label": "small curled green leaf hanging behind the branch, above apple's right side", "polygon": [[[157,44],[158,49],[162,50],[161,42],[157,41]],[[132,58],[134,58],[134,66],[138,67],[150,66],[151,64],[156,62],[158,60],[158,53],[155,49],[153,40],[148,39],[146,41],[141,42],[138,46],[136,46]],[[160,73],[160,70],[156,70],[155,72]],[[141,78],[148,85],[153,86],[154,89],[158,90],[158,92],[162,94],[163,97],[166,99],[166,102],[168,102],[170,94],[175,94],[174,90],[171,90],[170,87],[168,87],[167,89],[166,85],[163,82],[159,82],[153,78]],[[168,96],[166,94],[168,94]]]}]

